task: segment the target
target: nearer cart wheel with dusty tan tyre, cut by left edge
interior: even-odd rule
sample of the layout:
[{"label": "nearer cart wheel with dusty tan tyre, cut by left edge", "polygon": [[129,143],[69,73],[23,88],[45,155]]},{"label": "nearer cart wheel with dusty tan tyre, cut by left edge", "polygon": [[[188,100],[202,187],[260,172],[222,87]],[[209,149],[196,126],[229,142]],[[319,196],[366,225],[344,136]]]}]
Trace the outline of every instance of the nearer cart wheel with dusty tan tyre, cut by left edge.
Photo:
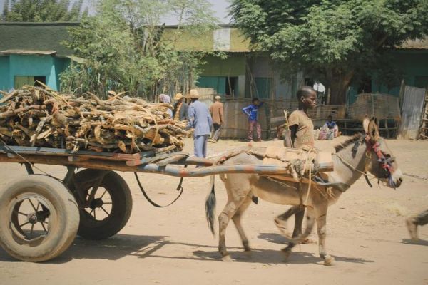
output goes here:
[{"label": "nearer cart wheel with dusty tan tyre, cut by left edge", "polygon": [[22,261],[57,257],[78,229],[76,200],[58,180],[29,175],[0,192],[0,245]]}]

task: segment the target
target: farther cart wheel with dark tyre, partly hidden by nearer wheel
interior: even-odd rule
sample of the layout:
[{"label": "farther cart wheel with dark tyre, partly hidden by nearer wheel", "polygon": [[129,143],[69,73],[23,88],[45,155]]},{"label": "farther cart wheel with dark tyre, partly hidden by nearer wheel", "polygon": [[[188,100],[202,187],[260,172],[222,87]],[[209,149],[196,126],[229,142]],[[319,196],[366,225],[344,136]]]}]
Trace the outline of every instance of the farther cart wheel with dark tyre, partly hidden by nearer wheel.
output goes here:
[{"label": "farther cart wheel with dark tyre, partly hidden by nearer wheel", "polygon": [[[93,193],[100,177],[99,187]],[[74,175],[69,187],[80,209],[78,235],[86,239],[107,239],[125,227],[131,215],[132,196],[121,175],[86,169]]]}]

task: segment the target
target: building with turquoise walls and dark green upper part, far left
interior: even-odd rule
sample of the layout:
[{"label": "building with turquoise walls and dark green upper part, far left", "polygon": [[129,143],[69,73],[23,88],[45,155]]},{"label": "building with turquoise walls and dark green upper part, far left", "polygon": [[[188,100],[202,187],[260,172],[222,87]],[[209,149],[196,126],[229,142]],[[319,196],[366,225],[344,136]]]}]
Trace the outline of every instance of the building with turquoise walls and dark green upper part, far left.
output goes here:
[{"label": "building with turquoise walls and dark green upper part, far left", "polygon": [[59,90],[73,52],[61,43],[78,23],[0,23],[0,90],[41,81]]}]

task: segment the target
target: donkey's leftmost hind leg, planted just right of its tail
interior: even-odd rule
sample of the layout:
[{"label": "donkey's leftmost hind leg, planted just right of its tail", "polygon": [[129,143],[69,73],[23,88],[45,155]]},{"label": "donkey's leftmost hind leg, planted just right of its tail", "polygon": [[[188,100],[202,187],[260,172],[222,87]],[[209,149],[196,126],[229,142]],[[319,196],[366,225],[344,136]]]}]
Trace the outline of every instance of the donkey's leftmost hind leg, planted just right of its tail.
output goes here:
[{"label": "donkey's leftmost hind leg, planted just right of its tail", "polygon": [[226,249],[226,228],[230,222],[230,219],[238,211],[240,205],[243,203],[247,196],[244,196],[240,199],[228,200],[228,203],[225,205],[225,208],[218,216],[218,251],[221,254],[223,261],[232,261],[228,250]]}]

